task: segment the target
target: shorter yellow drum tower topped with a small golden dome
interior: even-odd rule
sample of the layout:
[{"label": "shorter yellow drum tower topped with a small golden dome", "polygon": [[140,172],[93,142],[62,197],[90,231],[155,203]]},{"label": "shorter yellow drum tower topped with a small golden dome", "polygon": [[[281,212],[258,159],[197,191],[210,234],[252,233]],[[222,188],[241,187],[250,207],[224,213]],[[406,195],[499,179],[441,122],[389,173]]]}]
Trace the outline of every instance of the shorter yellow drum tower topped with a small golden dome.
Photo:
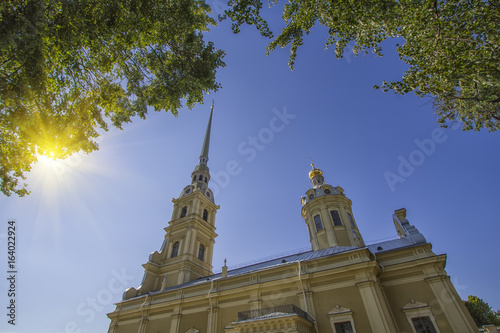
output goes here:
[{"label": "shorter yellow drum tower topped with a small golden dome", "polygon": [[314,251],[333,246],[365,245],[352,214],[352,202],[340,187],[325,184],[323,172],[311,164],[312,188],[302,197],[305,219]]}]

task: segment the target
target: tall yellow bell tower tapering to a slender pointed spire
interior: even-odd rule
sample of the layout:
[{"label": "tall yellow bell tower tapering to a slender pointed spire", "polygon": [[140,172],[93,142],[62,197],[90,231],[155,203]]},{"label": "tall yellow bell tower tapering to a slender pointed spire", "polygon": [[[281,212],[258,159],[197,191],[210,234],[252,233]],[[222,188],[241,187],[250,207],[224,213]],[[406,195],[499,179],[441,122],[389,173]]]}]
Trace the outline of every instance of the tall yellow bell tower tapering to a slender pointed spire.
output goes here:
[{"label": "tall yellow bell tower tapering to a slender pointed spire", "polygon": [[212,104],[199,162],[191,173],[191,183],[184,187],[178,198],[172,199],[172,218],[165,228],[161,249],[151,253],[143,265],[145,272],[141,286],[128,289],[124,299],[212,275],[213,247],[217,237],[215,214],[219,209],[208,187],[213,107]]}]

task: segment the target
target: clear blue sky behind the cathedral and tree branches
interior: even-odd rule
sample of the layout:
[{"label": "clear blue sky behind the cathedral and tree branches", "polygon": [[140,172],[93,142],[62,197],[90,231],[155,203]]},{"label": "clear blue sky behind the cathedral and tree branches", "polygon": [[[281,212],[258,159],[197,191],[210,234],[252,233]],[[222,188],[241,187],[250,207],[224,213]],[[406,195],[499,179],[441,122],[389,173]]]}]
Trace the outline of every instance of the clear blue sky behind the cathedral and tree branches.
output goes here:
[{"label": "clear blue sky behind the cathedral and tree branches", "polygon": [[[499,309],[499,134],[441,131],[429,101],[373,89],[405,69],[391,43],[382,58],[337,61],[325,36],[315,29],[290,71],[288,50],[265,56],[254,29],[232,35],[223,23],[208,34],[228,53],[217,76],[223,88],[205,105],[112,129],[98,152],[35,166],[30,196],[0,197],[2,244],[7,221],[18,226],[13,332],[107,331],[112,303],[139,286],[141,265],[162,244],[212,99],[209,167],[221,206],[214,271],[224,258],[234,266],[310,246],[300,197],[312,157],[352,200],[366,243],[395,238],[392,214],[405,207],[434,252],[447,254],[460,296]],[[388,173],[401,178],[391,185]],[[3,320],[0,331],[9,330]]]}]

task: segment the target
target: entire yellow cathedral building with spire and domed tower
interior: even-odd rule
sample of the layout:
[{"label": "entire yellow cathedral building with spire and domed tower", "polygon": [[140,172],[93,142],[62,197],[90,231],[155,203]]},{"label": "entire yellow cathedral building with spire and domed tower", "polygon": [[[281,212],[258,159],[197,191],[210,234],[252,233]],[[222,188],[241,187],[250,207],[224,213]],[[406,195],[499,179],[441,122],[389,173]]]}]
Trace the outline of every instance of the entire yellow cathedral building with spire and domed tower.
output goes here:
[{"label": "entire yellow cathedral building with spire and domed tower", "polygon": [[213,106],[191,182],[173,199],[160,251],[129,288],[108,333],[478,332],[446,255],[398,209],[393,240],[366,245],[352,202],[312,164],[301,198],[311,251],[212,272],[216,234],[207,166]]}]

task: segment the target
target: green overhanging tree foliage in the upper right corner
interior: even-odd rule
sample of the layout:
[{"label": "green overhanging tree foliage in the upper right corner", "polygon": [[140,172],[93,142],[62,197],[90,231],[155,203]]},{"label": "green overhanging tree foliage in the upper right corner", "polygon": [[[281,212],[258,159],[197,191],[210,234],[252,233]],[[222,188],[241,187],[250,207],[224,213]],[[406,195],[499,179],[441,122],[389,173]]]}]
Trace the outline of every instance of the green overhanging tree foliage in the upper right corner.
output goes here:
[{"label": "green overhanging tree foliage in the upper right corner", "polygon": [[[234,32],[247,23],[272,36],[261,0],[230,0],[229,6],[221,19],[231,19]],[[382,55],[382,41],[399,38],[397,52],[409,68],[400,81],[375,88],[431,97],[443,127],[462,121],[463,130],[500,129],[498,0],[288,0],[282,17],[285,27],[267,49],[290,46],[290,68],[317,24],[328,28],[326,46],[337,58],[350,44],[354,54]]]}]

